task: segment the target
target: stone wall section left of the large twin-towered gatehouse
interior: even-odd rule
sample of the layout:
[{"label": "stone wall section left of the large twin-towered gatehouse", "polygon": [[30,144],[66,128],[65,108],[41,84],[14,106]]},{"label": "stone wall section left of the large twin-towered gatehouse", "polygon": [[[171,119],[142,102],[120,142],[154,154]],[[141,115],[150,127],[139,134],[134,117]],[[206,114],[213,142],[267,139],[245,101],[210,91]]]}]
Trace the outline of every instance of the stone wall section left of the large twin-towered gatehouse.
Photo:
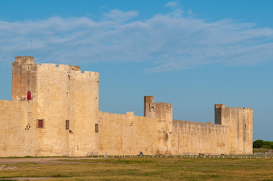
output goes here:
[{"label": "stone wall section left of the large twin-towered gatehouse", "polygon": [[36,156],[36,103],[0,100],[0,157]]}]

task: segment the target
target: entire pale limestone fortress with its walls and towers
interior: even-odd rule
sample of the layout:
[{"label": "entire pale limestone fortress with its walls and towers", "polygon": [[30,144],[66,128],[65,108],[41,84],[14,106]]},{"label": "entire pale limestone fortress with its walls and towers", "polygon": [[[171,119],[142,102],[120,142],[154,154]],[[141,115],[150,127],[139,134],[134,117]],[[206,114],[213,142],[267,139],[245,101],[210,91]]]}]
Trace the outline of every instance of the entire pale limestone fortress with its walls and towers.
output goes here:
[{"label": "entire pale limestone fortress with its walls and towers", "polygon": [[11,101],[0,100],[0,157],[252,153],[253,110],[215,105],[215,124],[173,119],[144,96],[144,116],[99,111],[99,73],[15,57]]}]

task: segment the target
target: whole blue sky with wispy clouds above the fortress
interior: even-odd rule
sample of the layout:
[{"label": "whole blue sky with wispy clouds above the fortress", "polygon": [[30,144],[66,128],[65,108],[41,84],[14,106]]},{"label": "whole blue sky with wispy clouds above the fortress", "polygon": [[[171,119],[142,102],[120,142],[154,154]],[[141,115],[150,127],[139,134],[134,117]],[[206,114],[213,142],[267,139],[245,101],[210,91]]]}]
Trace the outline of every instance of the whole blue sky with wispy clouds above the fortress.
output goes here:
[{"label": "whole blue sky with wispy clouds above the fortress", "polygon": [[214,122],[214,104],[253,108],[253,140],[272,141],[273,1],[2,1],[0,99],[11,62],[100,73],[99,109],[143,115],[143,96],[173,118]]}]

